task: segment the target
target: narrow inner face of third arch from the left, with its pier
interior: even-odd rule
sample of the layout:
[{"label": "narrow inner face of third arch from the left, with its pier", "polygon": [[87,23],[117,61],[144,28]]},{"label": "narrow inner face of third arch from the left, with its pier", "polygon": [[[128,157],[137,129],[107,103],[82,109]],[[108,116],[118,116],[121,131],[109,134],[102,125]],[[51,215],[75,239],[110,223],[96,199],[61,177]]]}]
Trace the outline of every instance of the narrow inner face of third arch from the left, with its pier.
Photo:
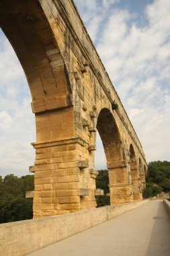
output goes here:
[{"label": "narrow inner face of third arch from the left, with its pier", "polygon": [[[139,166],[141,166],[140,163]],[[132,177],[132,191],[134,200],[142,199],[142,185],[139,172],[140,171],[138,170],[138,162],[136,160],[134,147],[132,146],[132,144],[130,144],[130,174]]]}]

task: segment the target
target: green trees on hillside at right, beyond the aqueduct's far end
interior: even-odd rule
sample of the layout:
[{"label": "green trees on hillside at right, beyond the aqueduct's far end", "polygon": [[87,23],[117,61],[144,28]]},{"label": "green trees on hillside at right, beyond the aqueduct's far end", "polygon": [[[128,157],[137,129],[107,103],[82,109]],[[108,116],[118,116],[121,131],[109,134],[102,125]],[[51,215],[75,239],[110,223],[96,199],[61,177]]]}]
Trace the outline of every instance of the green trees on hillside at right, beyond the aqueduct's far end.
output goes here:
[{"label": "green trees on hillside at right, beyond the aqueduct's far end", "polygon": [[155,161],[148,164],[148,177],[143,197],[157,196],[161,191],[170,191],[170,162]]}]

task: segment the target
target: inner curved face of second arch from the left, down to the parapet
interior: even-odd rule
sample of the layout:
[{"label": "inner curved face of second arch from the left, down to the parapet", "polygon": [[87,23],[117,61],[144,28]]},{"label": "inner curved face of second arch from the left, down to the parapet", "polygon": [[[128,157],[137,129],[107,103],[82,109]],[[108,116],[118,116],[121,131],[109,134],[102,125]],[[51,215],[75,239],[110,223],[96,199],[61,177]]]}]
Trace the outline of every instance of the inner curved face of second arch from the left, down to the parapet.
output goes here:
[{"label": "inner curved face of second arch from the left, down to the parapet", "polygon": [[128,166],[124,160],[124,143],[114,115],[103,108],[97,119],[97,131],[101,137],[107,160],[110,187],[110,204],[130,202]]}]

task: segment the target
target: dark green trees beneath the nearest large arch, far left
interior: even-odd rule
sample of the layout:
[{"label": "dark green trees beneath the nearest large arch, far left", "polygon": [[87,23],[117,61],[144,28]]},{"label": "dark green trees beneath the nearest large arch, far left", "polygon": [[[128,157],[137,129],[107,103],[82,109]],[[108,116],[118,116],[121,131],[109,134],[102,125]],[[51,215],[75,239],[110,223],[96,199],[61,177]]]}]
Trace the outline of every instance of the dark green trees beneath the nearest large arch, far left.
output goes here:
[{"label": "dark green trees beneath the nearest large arch, far left", "polygon": [[32,199],[26,199],[26,191],[34,190],[34,176],[21,178],[8,174],[0,177],[0,223],[32,218]]}]

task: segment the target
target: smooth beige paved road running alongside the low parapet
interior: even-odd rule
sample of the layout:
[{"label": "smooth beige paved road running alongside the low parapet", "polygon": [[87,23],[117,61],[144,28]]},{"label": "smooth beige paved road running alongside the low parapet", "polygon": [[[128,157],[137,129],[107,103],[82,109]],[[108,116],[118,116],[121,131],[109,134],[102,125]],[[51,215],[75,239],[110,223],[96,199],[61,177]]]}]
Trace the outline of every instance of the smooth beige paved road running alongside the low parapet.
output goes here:
[{"label": "smooth beige paved road running alongside the low parapet", "polygon": [[170,256],[170,218],[162,201],[151,201],[29,255]]}]

